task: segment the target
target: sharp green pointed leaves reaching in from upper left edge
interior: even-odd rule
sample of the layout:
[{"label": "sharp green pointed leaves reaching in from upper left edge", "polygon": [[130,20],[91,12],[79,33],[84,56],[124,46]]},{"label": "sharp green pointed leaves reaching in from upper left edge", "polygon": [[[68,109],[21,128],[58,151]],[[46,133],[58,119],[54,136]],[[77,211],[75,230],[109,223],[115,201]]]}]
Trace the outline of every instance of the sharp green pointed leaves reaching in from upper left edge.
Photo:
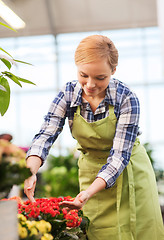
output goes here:
[{"label": "sharp green pointed leaves reaching in from upper left edge", "polygon": [[[15,31],[13,28],[9,27],[8,25],[6,25],[2,22],[0,22],[0,25]],[[0,47],[0,53],[1,52],[8,55],[7,57],[0,55],[0,61],[5,65],[5,67],[7,67],[7,69],[9,71],[10,71],[12,65],[16,62],[31,65],[30,63],[26,63],[26,62],[14,59],[2,47]],[[2,116],[6,113],[8,107],[9,107],[9,104],[10,104],[10,85],[8,83],[8,80],[12,80],[13,82],[15,82],[20,87],[22,87],[22,84],[20,82],[24,82],[24,83],[28,83],[28,84],[34,84],[33,82],[31,82],[27,79],[24,79],[24,78],[20,78],[20,77],[14,75],[13,73],[11,73],[9,71],[1,71],[0,72],[0,114]]]}]

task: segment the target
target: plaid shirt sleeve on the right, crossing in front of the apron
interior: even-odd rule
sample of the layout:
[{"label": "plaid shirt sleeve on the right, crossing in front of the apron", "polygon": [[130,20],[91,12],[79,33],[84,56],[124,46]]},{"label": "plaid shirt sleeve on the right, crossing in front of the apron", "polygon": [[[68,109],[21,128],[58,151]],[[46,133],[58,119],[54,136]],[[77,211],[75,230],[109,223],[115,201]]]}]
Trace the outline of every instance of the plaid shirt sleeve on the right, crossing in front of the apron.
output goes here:
[{"label": "plaid shirt sleeve on the right, crossing in front of the apron", "polygon": [[106,188],[112,187],[127,166],[138,133],[140,106],[136,95],[130,92],[120,104],[113,147],[107,163],[97,177],[106,181]]}]

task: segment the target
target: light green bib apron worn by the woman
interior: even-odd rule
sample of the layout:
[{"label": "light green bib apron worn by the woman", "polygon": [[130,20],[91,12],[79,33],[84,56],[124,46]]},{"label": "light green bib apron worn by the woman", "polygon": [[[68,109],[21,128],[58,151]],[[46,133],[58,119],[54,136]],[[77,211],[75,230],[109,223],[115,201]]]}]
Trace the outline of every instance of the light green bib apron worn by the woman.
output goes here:
[{"label": "light green bib apron worn by the woman", "polygon": [[[116,130],[114,107],[109,116],[88,123],[74,115],[72,135],[81,151],[80,191],[86,190],[106,163]],[[129,164],[114,186],[95,194],[83,207],[90,219],[89,240],[163,240],[164,228],[155,175],[145,149],[136,139]]]}]

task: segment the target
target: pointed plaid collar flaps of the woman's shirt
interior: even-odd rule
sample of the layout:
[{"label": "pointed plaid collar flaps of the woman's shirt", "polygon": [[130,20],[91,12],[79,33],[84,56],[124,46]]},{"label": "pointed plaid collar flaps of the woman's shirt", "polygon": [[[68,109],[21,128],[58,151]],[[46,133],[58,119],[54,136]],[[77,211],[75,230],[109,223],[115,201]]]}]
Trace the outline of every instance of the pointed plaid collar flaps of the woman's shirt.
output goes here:
[{"label": "pointed plaid collar flaps of the woman's shirt", "polygon": [[[110,105],[115,105],[116,102],[116,83],[114,81],[114,78],[110,79],[109,85],[106,89],[106,94],[104,101]],[[79,105],[82,105],[82,88],[80,83],[77,81],[77,84],[75,85],[73,97],[71,101],[70,107],[77,107]]]}]

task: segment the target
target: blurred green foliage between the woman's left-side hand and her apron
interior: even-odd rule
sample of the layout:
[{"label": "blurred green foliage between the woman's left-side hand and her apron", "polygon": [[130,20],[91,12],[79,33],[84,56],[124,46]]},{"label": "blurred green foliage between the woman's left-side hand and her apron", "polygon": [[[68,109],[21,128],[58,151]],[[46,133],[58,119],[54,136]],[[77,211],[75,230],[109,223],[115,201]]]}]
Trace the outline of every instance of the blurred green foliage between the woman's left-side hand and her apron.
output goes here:
[{"label": "blurred green foliage between the woman's left-side hand and her apron", "polygon": [[75,197],[79,193],[77,159],[67,156],[48,157],[48,169],[41,175],[35,195],[38,197]]}]

